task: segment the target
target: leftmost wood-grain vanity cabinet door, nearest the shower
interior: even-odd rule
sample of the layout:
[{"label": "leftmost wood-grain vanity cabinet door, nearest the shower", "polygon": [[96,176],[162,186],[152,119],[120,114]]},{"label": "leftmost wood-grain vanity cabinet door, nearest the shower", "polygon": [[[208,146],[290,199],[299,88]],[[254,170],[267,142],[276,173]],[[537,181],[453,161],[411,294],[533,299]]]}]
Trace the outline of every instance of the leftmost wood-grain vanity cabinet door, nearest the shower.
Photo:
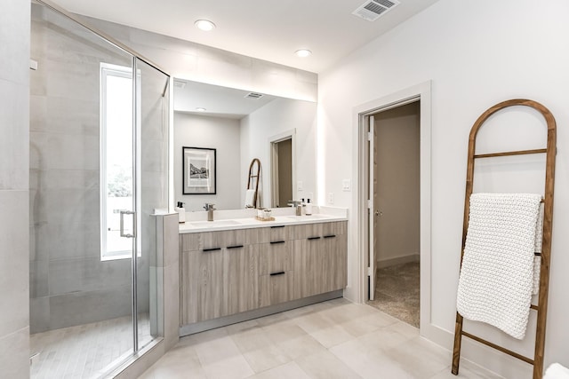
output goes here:
[{"label": "leftmost wood-grain vanity cabinet door, nearest the shower", "polygon": [[183,251],[180,259],[181,325],[221,317],[222,250]]}]

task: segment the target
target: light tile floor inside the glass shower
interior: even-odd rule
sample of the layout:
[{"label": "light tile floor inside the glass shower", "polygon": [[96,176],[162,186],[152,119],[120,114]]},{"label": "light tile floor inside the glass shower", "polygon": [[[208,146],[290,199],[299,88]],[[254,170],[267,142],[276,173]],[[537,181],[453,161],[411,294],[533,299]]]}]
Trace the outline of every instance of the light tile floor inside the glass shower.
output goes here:
[{"label": "light tile floor inside the glass shower", "polygon": [[[139,315],[139,340],[150,340],[148,313]],[[93,322],[29,336],[34,379],[97,378],[132,349],[132,318]]]}]

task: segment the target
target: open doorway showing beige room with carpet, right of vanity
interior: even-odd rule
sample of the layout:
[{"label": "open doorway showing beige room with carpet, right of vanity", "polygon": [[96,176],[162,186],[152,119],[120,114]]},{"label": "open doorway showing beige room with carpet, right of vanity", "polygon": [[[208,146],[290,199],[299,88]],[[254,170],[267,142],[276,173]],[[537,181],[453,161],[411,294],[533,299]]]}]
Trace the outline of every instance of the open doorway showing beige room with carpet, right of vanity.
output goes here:
[{"label": "open doorway showing beige room with carpet, right of vanity", "polygon": [[373,287],[368,304],[420,326],[421,103],[370,115]]}]

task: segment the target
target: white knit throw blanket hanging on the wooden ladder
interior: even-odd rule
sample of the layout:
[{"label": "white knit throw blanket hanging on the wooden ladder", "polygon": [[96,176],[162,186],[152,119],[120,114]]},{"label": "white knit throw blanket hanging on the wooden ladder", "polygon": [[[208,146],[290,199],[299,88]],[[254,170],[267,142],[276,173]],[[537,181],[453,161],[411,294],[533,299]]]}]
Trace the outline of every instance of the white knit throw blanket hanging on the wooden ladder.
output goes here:
[{"label": "white knit throw blanket hanging on the wooden ladder", "polygon": [[533,289],[540,194],[473,193],[457,310],[523,339]]}]

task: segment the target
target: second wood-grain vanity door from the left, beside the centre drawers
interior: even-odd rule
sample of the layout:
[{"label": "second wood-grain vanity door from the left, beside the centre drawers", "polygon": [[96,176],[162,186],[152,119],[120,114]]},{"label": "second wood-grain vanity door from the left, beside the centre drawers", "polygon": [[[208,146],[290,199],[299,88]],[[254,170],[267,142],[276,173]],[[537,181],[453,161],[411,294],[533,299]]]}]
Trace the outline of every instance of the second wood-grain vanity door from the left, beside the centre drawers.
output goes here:
[{"label": "second wood-grain vanity door from the left, beside the centre drawers", "polygon": [[259,245],[223,250],[223,315],[251,311],[259,303]]}]

